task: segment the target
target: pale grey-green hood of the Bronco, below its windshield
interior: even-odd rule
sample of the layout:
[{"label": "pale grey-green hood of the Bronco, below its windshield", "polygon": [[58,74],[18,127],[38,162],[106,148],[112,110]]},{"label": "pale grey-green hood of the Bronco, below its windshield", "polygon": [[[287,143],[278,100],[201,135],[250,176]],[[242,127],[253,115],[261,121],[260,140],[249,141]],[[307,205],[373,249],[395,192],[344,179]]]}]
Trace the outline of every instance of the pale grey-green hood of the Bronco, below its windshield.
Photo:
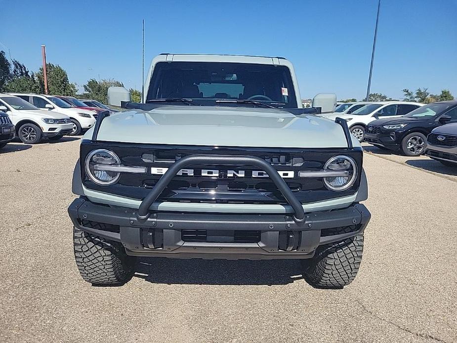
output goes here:
[{"label": "pale grey-green hood of the Bronco, below its windshield", "polygon": [[[93,129],[84,138],[90,139]],[[164,106],[105,118],[97,139],[127,143],[284,147],[347,147],[338,124],[269,108]],[[353,144],[359,145],[353,139]]]}]

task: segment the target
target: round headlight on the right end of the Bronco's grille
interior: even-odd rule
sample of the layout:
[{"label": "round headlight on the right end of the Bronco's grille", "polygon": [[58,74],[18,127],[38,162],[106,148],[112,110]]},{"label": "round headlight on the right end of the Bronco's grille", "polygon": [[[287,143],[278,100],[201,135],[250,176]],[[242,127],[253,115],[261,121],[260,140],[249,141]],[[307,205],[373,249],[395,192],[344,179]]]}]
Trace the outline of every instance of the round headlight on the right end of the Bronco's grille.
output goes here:
[{"label": "round headlight on the right end of the Bronco's grille", "polygon": [[324,177],[326,187],[340,192],[350,188],[357,178],[357,164],[348,156],[332,157],[324,166],[327,172],[341,172],[341,175]]}]

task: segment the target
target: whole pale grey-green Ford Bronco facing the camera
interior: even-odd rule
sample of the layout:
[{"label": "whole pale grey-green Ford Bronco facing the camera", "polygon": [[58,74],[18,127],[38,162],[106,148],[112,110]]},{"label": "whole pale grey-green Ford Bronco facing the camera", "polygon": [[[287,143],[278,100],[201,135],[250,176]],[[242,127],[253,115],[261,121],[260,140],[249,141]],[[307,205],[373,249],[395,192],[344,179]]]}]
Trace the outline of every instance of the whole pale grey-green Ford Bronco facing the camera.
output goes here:
[{"label": "whole pale grey-green Ford Bronco facing the camera", "polygon": [[362,148],[346,121],[301,108],[288,60],[162,54],[122,107],[86,132],[73,176],[84,280],[124,284],[136,257],[299,258],[314,287],[355,278]]}]

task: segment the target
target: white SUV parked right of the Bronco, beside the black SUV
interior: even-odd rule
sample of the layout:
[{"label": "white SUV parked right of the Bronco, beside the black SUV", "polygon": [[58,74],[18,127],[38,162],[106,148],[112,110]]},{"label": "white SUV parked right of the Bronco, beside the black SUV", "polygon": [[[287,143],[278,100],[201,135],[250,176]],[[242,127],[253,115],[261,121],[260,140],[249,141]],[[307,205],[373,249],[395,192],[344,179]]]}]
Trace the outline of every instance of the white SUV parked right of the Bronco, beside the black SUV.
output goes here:
[{"label": "white SUV parked right of the Bronco, beside the black SUV", "polygon": [[333,113],[326,118],[331,120],[335,120],[336,117],[345,119],[351,133],[361,142],[365,137],[365,128],[370,122],[381,118],[404,116],[423,105],[424,104],[410,101],[371,102],[351,114]]}]

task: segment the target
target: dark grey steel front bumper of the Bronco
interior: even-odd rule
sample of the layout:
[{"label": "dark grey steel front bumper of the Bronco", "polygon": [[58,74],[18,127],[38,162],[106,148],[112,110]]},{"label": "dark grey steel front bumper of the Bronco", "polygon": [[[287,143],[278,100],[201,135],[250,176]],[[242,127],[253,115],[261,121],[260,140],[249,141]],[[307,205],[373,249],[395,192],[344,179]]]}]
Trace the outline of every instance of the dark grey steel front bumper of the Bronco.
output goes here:
[{"label": "dark grey steel front bumper of the Bronco", "polygon": [[[364,205],[353,204],[307,213],[302,222],[288,214],[155,212],[141,219],[136,209],[97,205],[83,197],[68,213],[76,228],[121,242],[128,255],[209,259],[310,258],[320,245],[362,233],[371,217]],[[186,238],[189,233],[194,238]]]}]

